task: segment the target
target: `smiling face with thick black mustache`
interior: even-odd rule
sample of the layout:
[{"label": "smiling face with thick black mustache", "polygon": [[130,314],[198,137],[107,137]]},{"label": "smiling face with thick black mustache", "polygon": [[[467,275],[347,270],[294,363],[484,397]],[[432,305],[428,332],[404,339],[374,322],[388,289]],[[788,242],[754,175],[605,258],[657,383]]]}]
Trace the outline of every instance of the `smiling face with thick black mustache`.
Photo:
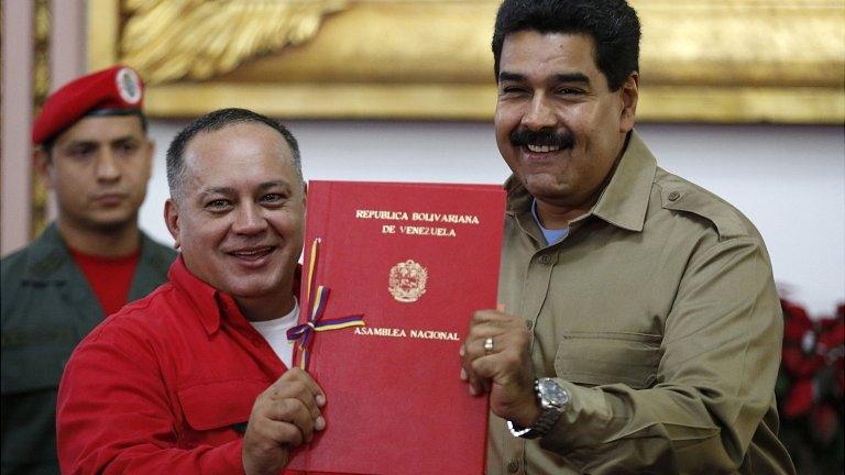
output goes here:
[{"label": "smiling face with thick black mustache", "polygon": [[636,74],[611,91],[593,48],[588,35],[528,30],[501,56],[498,150],[539,205],[570,219],[595,202],[634,126]]}]

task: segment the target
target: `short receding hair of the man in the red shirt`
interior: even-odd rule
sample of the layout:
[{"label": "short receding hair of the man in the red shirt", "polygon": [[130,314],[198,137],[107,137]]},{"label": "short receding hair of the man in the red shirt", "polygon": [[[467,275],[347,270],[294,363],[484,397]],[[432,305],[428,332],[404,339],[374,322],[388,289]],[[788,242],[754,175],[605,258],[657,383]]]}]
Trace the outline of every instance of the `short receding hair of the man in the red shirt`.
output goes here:
[{"label": "short receding hair of the man in the red shirt", "polygon": [[188,126],[183,129],[182,132],[173,139],[173,142],[171,142],[171,146],[167,148],[167,186],[171,189],[171,197],[174,199],[179,199],[182,197],[182,186],[185,181],[185,148],[187,148],[188,143],[196,135],[204,132],[219,131],[229,125],[249,122],[262,123],[282,135],[293,152],[294,163],[292,165],[294,172],[296,173],[297,178],[299,178],[299,181],[305,183],[303,180],[299,144],[296,142],[294,134],[279,122],[260,113],[246,109],[230,108],[216,110],[196,119],[194,122],[189,123]]}]

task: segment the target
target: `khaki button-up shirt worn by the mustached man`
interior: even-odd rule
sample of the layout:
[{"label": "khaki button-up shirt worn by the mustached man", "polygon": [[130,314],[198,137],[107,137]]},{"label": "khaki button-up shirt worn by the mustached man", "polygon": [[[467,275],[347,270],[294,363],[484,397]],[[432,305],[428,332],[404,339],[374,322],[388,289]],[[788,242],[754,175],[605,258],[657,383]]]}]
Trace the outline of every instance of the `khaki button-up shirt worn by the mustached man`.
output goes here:
[{"label": "khaki button-up shirt worn by the mustached man", "polygon": [[780,305],[739,211],[658,168],[636,133],[555,245],[507,187],[500,300],[571,401],[539,441],[491,416],[490,475],[794,473],[776,435]]}]

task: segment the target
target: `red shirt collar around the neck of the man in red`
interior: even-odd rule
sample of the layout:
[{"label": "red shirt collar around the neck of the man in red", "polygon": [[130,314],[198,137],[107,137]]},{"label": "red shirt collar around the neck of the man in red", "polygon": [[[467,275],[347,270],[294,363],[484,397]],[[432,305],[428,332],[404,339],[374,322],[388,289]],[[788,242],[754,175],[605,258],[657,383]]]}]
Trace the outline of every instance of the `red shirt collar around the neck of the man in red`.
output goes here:
[{"label": "red shirt collar around the neck of the man in red", "polygon": [[[296,266],[294,272],[294,295],[299,294],[300,266]],[[180,289],[185,297],[190,301],[196,310],[199,321],[209,334],[216,333],[220,329],[223,318],[231,323],[251,329],[246,317],[241,313],[238,303],[230,295],[222,292],[215,287],[200,280],[199,277],[188,270],[185,261],[179,254],[171,265],[167,277],[175,287]]]}]

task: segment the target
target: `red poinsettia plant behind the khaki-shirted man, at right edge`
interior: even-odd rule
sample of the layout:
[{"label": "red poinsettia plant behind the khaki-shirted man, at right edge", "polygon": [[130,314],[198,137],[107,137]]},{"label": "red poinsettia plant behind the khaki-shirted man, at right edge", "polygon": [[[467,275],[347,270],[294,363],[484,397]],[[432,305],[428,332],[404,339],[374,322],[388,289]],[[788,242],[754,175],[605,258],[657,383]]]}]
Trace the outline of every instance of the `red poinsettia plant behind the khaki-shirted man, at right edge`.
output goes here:
[{"label": "red poinsettia plant behind the khaki-shirted man, at right edge", "polygon": [[778,406],[787,443],[800,473],[842,473],[845,394],[845,305],[811,319],[795,302],[781,300],[783,353]]}]

